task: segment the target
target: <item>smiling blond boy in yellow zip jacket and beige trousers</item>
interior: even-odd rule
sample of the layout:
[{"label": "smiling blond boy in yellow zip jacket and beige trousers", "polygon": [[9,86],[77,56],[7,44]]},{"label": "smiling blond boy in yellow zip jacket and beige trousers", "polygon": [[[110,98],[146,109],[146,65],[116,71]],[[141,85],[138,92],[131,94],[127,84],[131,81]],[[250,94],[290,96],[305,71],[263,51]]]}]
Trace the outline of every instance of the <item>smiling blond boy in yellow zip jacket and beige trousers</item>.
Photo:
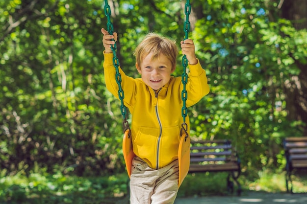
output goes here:
[{"label": "smiling blond boy in yellow zip jacket and beige trousers", "polygon": [[[118,98],[111,50],[117,33],[110,35],[103,28],[101,31],[106,88]],[[186,39],[180,44],[182,54],[189,61],[186,106],[190,107],[208,94],[209,86],[205,70],[196,58],[193,41]],[[136,155],[131,167],[130,203],[173,204],[179,189],[178,148],[183,122],[181,77],[171,76],[176,68],[178,48],[167,38],[148,34],[134,54],[141,78],[128,77],[119,68],[124,104],[132,115],[131,138]],[[189,127],[188,117],[186,123]]]}]

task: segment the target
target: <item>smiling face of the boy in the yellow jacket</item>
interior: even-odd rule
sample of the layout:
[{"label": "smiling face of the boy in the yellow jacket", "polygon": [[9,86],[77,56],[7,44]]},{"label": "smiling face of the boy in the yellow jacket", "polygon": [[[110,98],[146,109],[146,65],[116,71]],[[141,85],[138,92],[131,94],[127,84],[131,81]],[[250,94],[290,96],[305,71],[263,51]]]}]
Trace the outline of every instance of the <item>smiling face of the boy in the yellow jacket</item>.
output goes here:
[{"label": "smiling face of the boy in the yellow jacket", "polygon": [[135,64],[138,72],[142,76],[144,83],[153,90],[158,90],[167,84],[171,78],[171,73],[175,70],[172,63],[165,55],[160,54],[158,58],[152,59],[153,53],[144,57],[140,65]]}]

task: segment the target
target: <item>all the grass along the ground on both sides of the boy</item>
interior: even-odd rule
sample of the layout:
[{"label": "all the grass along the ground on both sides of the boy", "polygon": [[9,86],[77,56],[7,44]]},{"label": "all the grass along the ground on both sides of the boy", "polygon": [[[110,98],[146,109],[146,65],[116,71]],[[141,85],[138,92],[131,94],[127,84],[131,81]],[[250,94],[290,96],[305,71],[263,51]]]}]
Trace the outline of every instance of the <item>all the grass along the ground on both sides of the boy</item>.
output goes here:
[{"label": "all the grass along the ground on both sides of the boy", "polygon": [[[189,174],[178,197],[228,195],[227,173]],[[306,172],[293,178],[294,192],[307,192]],[[259,172],[258,179],[248,181],[241,175],[244,191],[285,192],[285,172]],[[0,178],[1,204],[113,204],[128,192],[127,174],[80,178],[62,174],[31,174]]]}]

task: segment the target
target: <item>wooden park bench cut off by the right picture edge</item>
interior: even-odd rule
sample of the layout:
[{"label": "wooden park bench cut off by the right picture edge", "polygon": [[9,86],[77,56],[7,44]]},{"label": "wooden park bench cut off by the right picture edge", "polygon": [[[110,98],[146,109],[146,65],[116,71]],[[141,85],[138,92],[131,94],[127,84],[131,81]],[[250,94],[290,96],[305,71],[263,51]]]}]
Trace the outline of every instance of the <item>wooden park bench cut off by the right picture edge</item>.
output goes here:
[{"label": "wooden park bench cut off by the right picture edge", "polygon": [[[287,137],[283,140],[286,158],[286,188],[287,192],[293,193],[291,175],[294,170],[307,169],[307,136]],[[291,188],[289,191],[289,183]]]}]

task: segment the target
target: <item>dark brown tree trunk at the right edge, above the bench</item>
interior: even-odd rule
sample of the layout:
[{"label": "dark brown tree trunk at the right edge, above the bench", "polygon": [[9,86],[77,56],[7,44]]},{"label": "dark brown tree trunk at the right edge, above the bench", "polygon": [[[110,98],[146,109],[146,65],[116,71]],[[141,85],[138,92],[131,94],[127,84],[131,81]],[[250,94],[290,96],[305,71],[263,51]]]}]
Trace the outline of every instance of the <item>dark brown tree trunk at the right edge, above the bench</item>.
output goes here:
[{"label": "dark brown tree trunk at the right edge, above the bench", "polygon": [[[304,121],[307,123],[307,60],[306,60],[306,29],[307,29],[307,1],[306,0],[281,0],[278,8],[281,9],[281,18],[288,19],[295,28],[290,37],[294,39],[293,50],[302,52],[291,52],[294,66],[299,69],[298,74],[291,75],[284,82],[284,91],[287,95],[287,111],[291,120]],[[289,36],[285,33],[285,36]],[[305,41],[304,41],[305,38]],[[296,39],[296,40],[295,40]],[[303,40],[303,41],[302,41]],[[301,41],[301,42],[300,42]],[[307,126],[304,130],[307,135]]]}]

